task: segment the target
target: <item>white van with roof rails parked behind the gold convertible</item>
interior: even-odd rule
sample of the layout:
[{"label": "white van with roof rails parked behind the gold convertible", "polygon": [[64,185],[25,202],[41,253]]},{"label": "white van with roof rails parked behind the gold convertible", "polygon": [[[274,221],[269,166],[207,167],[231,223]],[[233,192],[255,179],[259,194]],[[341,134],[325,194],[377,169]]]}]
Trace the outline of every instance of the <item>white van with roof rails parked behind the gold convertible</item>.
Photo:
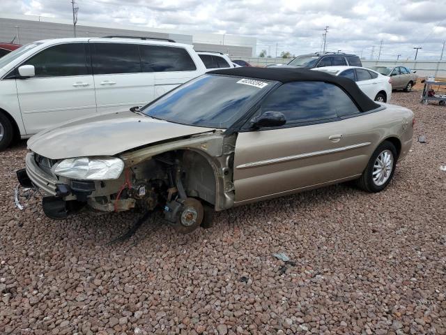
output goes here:
[{"label": "white van with roof rails parked behind the gold convertible", "polygon": [[145,105],[206,73],[192,45],[138,38],[40,40],[0,59],[0,150],[63,121]]}]

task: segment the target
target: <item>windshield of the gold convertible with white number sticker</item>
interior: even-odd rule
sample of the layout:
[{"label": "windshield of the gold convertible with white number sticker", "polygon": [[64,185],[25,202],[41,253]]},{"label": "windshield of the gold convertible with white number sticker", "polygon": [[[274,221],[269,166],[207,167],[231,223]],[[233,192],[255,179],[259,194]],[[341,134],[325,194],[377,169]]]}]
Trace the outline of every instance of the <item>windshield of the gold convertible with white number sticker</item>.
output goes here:
[{"label": "windshield of the gold convertible with white number sticker", "polygon": [[223,75],[202,75],[141,109],[144,114],[178,124],[229,128],[255,98],[275,82]]}]

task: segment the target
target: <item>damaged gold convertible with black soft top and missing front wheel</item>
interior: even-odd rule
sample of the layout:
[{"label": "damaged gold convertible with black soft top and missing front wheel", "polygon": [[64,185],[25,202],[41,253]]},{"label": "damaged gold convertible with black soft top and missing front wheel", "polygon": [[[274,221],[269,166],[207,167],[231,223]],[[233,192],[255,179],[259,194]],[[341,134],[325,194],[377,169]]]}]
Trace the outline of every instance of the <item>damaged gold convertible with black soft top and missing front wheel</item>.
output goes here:
[{"label": "damaged gold convertible with black soft top and missing front wheel", "polygon": [[357,180],[389,184],[412,144],[413,112],[355,82],[295,68],[215,70],[131,111],[77,119],[28,141],[20,184],[43,210],[160,209],[179,232],[205,209]]}]

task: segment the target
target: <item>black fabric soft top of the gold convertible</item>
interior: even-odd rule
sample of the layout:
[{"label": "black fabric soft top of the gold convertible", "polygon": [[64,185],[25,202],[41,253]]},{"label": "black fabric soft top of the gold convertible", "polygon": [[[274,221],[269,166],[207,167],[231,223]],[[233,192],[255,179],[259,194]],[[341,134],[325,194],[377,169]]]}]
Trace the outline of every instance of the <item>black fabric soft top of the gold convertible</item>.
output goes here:
[{"label": "black fabric soft top of the gold convertible", "polygon": [[330,82],[346,91],[351,98],[360,107],[362,112],[369,112],[380,105],[372,101],[357,87],[357,84],[346,77],[338,77],[317,70],[309,70],[307,68],[226,68],[222,70],[209,71],[209,74],[215,75],[235,75],[237,77],[248,77],[263,80],[275,80],[277,82]]}]

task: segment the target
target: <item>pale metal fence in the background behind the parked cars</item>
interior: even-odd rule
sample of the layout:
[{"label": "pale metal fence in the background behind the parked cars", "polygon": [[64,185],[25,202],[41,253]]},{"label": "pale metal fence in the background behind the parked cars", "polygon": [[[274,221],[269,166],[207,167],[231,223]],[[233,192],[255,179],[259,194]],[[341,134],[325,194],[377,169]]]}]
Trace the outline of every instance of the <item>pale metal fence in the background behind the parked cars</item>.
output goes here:
[{"label": "pale metal fence in the background behind the parked cars", "polygon": [[[235,59],[235,58],[234,58]],[[239,58],[249,62],[254,66],[267,66],[268,64],[286,64],[291,59],[282,58],[261,58],[261,57],[243,57]],[[406,66],[411,70],[416,70],[418,77],[433,75],[435,77],[446,78],[446,60],[444,61],[367,61],[362,60],[362,66],[371,68],[372,66]]]}]

